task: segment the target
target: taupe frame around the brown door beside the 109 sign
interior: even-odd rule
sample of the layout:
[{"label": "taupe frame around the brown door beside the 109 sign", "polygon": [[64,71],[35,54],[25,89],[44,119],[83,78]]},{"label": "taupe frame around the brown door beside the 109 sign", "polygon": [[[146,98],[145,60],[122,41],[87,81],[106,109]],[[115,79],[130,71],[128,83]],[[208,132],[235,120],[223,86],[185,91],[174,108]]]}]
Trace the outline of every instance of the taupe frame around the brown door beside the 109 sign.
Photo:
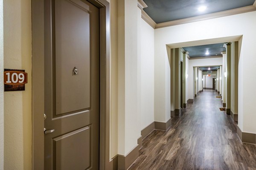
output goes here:
[{"label": "taupe frame around the brown door beside the 109 sign", "polygon": [[[100,123],[99,169],[110,169],[110,4],[87,0],[100,16]],[[32,169],[44,170],[44,1],[32,8]]]}]

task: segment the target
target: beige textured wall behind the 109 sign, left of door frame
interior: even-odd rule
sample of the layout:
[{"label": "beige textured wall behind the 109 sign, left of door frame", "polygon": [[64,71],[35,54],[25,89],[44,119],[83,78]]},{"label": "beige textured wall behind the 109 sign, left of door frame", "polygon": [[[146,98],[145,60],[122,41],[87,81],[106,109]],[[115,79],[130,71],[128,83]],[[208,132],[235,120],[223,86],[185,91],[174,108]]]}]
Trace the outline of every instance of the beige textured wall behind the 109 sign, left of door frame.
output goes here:
[{"label": "beige textured wall behind the 109 sign, left of door frame", "polygon": [[31,1],[4,0],[4,68],[28,73],[26,91],[4,92],[4,169],[31,169]]}]

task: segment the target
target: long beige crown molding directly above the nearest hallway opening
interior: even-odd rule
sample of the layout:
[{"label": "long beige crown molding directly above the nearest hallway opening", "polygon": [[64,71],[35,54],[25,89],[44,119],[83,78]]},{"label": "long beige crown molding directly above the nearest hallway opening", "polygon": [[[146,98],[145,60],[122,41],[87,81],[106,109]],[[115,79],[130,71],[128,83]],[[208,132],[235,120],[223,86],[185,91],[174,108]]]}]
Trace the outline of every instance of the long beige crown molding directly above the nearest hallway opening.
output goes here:
[{"label": "long beige crown molding directly above the nearest hallway opening", "polygon": [[184,18],[184,19],[174,20],[174,21],[169,21],[169,22],[164,22],[164,23],[157,23],[155,28],[157,29],[157,28],[175,26],[175,25],[180,25],[180,24],[185,24],[185,23],[197,22],[197,21],[201,21],[201,20],[209,20],[209,19],[213,19],[213,18],[225,17],[225,16],[229,16],[229,15],[241,14],[241,13],[251,12],[251,11],[256,11],[256,1],[251,6],[245,6],[245,7],[241,7],[241,8],[235,8],[235,9],[215,12],[215,13],[211,13],[211,14],[204,14],[204,15],[200,15],[200,16],[196,16],[196,17],[189,17],[189,18]]}]

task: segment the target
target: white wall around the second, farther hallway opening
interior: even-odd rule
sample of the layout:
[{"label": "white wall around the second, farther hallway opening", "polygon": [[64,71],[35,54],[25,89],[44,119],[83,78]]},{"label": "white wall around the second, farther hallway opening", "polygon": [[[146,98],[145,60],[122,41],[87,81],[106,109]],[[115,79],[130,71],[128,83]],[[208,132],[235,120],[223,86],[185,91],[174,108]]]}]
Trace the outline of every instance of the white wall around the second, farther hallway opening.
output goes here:
[{"label": "white wall around the second, farther hallway opening", "polygon": [[[189,99],[194,99],[193,67],[209,66],[209,65],[222,65],[222,57],[208,58],[208,59],[189,59],[189,70],[188,70],[189,75],[188,75],[187,82],[186,82],[188,84],[187,93],[188,93]],[[198,78],[198,80],[199,80],[199,78]]]}]

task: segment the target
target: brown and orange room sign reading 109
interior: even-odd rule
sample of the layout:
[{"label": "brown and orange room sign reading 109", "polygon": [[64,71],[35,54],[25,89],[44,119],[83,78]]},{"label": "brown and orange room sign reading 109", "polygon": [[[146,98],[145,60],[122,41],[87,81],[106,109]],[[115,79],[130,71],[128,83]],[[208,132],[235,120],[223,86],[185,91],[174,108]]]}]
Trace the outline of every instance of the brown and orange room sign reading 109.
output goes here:
[{"label": "brown and orange room sign reading 109", "polygon": [[24,91],[27,83],[25,70],[4,69],[4,91]]}]

